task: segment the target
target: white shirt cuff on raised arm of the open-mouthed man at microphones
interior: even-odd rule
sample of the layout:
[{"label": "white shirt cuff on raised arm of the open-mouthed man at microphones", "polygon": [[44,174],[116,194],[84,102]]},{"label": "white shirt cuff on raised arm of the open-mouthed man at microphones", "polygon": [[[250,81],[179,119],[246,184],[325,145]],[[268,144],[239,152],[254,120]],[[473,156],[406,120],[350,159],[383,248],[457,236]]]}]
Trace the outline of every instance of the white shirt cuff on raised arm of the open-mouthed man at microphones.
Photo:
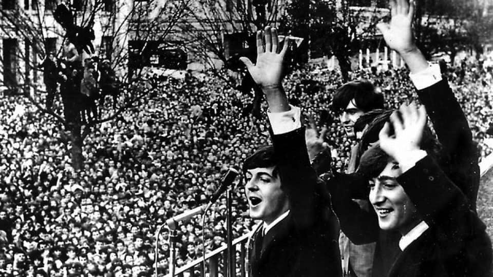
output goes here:
[{"label": "white shirt cuff on raised arm of the open-mouthed man at microphones", "polygon": [[289,105],[291,110],[285,112],[267,111],[269,122],[271,123],[274,134],[284,134],[301,128],[301,109]]}]

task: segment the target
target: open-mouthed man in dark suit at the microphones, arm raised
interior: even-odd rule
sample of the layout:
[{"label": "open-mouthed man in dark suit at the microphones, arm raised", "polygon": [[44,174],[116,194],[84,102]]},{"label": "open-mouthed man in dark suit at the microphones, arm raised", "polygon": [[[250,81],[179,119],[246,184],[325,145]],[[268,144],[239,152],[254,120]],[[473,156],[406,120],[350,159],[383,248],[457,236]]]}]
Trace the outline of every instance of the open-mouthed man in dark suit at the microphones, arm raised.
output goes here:
[{"label": "open-mouthed man in dark suit at the microphones, arm raised", "polygon": [[[257,33],[257,63],[242,57],[269,104],[273,146],[245,160],[245,192],[253,219],[251,276],[340,276],[338,226],[330,206],[317,193],[300,109],[290,106],[281,86],[283,57],[276,29]],[[265,47],[265,49],[264,49]]]}]

